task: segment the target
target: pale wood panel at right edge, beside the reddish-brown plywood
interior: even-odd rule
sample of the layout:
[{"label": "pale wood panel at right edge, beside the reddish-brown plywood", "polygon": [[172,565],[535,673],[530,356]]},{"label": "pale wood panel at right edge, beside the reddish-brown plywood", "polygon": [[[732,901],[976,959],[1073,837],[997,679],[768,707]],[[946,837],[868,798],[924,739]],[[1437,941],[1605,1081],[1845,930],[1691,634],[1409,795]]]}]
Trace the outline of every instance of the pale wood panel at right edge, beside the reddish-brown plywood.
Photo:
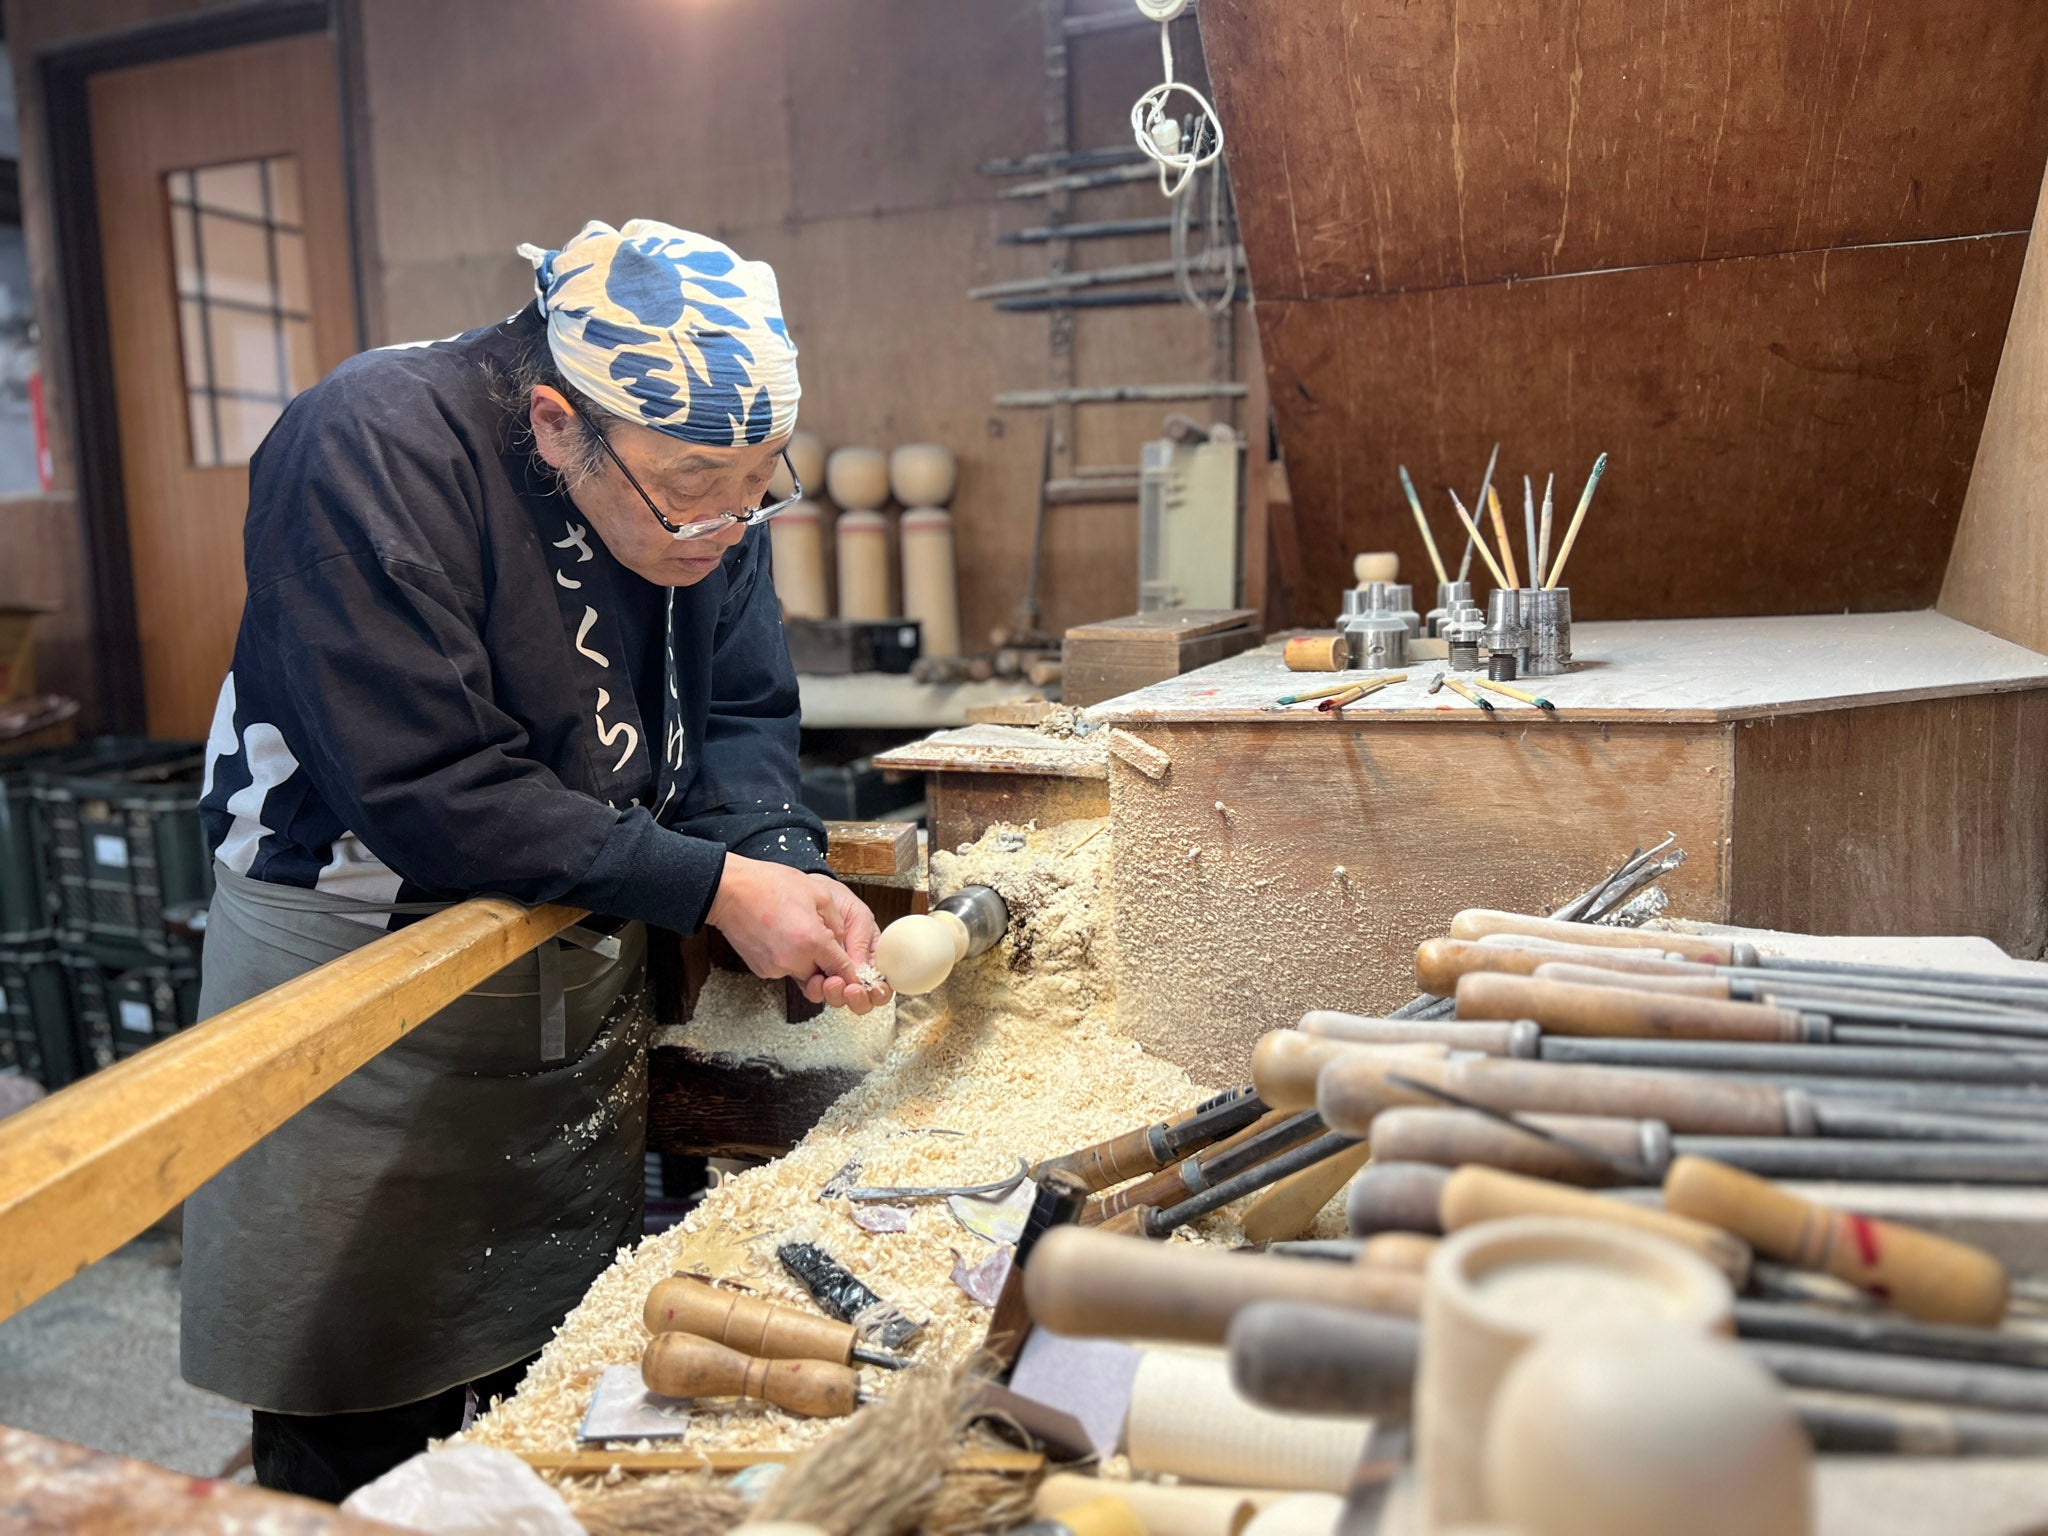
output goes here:
[{"label": "pale wood panel at right edge, beside the reddish-brown plywood", "polygon": [[2048,197],[1942,582],[1942,612],[2048,651]]}]

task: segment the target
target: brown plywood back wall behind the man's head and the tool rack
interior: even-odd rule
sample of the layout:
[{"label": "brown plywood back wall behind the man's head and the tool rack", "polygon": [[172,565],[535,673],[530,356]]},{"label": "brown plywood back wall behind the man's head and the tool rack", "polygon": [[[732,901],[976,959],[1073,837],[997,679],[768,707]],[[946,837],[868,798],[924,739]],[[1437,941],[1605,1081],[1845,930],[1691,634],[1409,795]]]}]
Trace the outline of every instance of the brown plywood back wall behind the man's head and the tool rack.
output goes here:
[{"label": "brown plywood back wall behind the man's head and the tool rack", "polygon": [[[1077,10],[1090,8],[1083,4]],[[1096,6],[1106,8],[1106,6]],[[946,442],[969,643],[1024,592],[1047,315],[967,289],[1044,270],[997,246],[1040,203],[1001,203],[977,162],[1044,145],[1038,0],[362,0],[379,340],[444,336],[530,295],[512,248],[584,219],[662,217],[774,262],[803,352],[803,424],[838,442]],[[1075,43],[1075,143],[1128,133],[1157,35]],[[1073,217],[1163,213],[1155,188],[1087,193]],[[1165,256],[1090,242],[1075,264]],[[1245,324],[1249,340],[1249,324]],[[1206,379],[1186,309],[1090,311],[1081,383]],[[1208,420],[1206,403],[1196,408]],[[1161,408],[1087,410],[1077,459],[1135,465]],[[1137,510],[1055,508],[1044,621],[1137,606]]]}]

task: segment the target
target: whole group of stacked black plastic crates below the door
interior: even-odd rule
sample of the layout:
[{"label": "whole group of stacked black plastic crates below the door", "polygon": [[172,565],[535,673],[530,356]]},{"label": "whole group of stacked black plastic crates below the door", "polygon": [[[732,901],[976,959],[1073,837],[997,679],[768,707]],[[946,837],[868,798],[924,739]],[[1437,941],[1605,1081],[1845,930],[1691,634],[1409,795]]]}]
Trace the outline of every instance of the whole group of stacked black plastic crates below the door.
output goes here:
[{"label": "whole group of stacked black plastic crates below the door", "polygon": [[205,903],[195,743],[100,737],[0,764],[0,1069],[45,1087],[193,1022]]}]

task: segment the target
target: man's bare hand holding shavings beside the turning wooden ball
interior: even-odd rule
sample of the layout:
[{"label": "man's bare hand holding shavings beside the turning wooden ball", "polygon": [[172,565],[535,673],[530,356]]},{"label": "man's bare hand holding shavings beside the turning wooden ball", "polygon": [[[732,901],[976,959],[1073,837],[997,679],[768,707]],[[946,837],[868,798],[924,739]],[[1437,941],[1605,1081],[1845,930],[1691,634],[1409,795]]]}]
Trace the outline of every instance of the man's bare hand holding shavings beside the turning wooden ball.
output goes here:
[{"label": "man's bare hand holding shavings beside the turning wooden ball", "polygon": [[874,913],[825,874],[727,854],[709,922],[754,975],[797,977],[813,1004],[864,1014],[889,999],[887,985],[860,981],[874,952]]}]

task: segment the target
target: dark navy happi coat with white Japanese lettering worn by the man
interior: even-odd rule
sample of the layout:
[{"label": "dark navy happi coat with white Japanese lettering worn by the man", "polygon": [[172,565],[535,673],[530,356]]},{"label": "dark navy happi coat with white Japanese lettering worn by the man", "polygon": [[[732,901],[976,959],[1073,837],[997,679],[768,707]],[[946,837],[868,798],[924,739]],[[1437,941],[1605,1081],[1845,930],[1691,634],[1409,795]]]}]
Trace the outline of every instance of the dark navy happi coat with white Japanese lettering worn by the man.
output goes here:
[{"label": "dark navy happi coat with white Japanese lettering worn by the man", "polygon": [[618,565],[492,397],[541,334],[365,352],[256,453],[201,801],[229,868],[680,932],[727,850],[825,870],[768,530],[690,588]]}]

